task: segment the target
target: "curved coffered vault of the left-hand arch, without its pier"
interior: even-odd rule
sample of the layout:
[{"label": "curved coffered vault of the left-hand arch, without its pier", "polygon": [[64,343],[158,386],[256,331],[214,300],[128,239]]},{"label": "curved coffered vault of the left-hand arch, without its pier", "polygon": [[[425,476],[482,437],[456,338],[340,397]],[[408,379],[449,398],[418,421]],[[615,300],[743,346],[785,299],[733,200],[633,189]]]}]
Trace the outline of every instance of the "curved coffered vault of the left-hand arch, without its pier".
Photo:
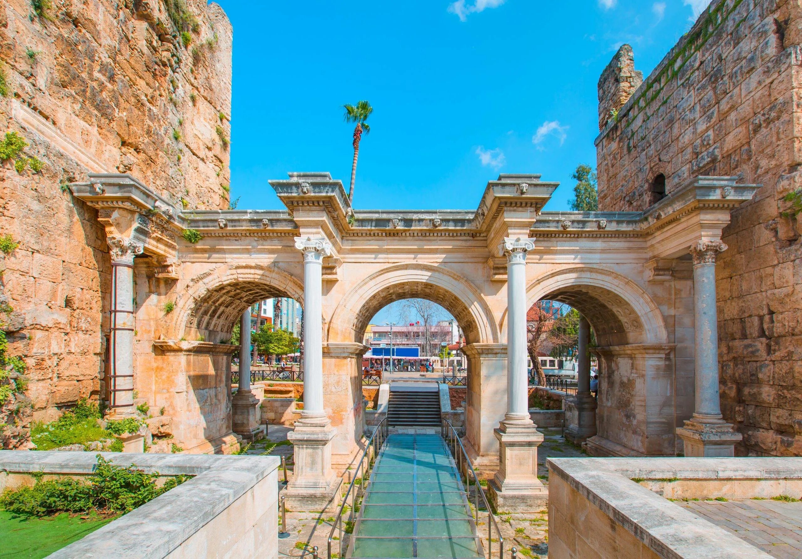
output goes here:
[{"label": "curved coffered vault of the left-hand arch, without its pier", "polygon": [[275,297],[303,304],[303,282],[275,265],[219,265],[189,280],[165,331],[170,338],[203,333],[207,342],[220,342],[231,334],[233,324],[249,305]]}]

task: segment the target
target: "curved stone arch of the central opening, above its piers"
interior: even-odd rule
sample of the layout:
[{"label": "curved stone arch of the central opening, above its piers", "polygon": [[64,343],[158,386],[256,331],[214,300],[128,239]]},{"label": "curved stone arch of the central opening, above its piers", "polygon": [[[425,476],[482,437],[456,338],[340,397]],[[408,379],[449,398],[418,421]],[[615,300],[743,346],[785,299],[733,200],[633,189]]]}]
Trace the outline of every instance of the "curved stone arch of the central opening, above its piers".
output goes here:
[{"label": "curved stone arch of the central opening, above its piers", "polygon": [[460,323],[468,342],[498,343],[492,311],[470,282],[451,270],[428,264],[391,265],[363,279],[338,303],[326,327],[326,342],[362,342],[373,316],[391,302],[428,299]]}]

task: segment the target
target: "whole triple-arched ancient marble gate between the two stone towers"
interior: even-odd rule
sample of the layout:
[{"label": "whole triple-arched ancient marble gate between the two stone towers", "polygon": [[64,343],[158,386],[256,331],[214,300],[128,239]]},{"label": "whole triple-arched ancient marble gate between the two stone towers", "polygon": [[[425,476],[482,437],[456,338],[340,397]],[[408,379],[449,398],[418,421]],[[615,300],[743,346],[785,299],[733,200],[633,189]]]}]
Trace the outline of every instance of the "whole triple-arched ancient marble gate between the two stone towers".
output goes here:
[{"label": "whole triple-arched ancient marble gate between the two stone towers", "polygon": [[[544,298],[566,302],[593,328],[601,386],[590,452],[674,455],[688,437],[707,452],[704,433],[711,429],[725,433],[713,446],[727,447],[731,430],[709,407],[714,390],[718,405],[715,355],[698,348],[711,327],[715,338],[709,280],[715,253],[725,248],[721,231],[756,185],[699,177],[645,212],[566,213],[541,211],[557,183],[538,175],[499,176],[469,211],[353,210],[328,173],[290,173],[271,184],[286,211],[184,212],[126,175],[91,175],[89,183],[71,185],[97,209],[115,243],[112,264],[133,266],[134,340],[111,340],[118,362],[110,371],[119,379],[104,380],[117,387],[121,406],[130,400],[125,391],[136,389],[164,407],[183,448],[229,452],[239,441],[230,391],[230,357],[238,348],[229,341],[243,311],[272,297],[302,302],[305,326],[315,317],[321,323],[319,338],[306,331],[307,365],[315,354],[322,361],[317,375],[306,371],[304,407],[314,409],[322,388],[325,417],[310,411],[307,431],[333,431],[330,443],[328,435],[319,439],[316,456],[325,463],[330,452],[334,470],[346,467],[363,435],[367,323],[403,298],[439,303],[464,330],[464,444],[485,472],[501,467],[494,430],[515,423],[510,418],[520,415],[526,382],[512,356],[520,349],[508,346],[525,340],[519,320],[508,324],[508,300],[524,314]],[[201,234],[196,243],[182,236],[192,229]],[[508,270],[523,273],[515,271],[513,282]],[[172,312],[164,312],[165,302],[175,303]],[[124,382],[126,367],[132,387]],[[676,430],[692,415],[695,423],[686,427],[696,435],[684,429],[681,439]]]}]

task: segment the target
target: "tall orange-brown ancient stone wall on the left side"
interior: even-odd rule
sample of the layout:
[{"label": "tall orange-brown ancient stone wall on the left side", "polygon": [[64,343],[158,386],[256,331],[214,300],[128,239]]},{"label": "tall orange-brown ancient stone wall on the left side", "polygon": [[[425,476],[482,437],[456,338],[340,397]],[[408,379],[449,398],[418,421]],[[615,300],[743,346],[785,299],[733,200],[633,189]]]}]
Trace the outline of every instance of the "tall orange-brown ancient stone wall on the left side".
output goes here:
[{"label": "tall orange-brown ancient stone wall on the left side", "polygon": [[205,0],[0,3],[0,140],[27,144],[0,167],[0,235],[19,243],[2,292],[33,419],[102,387],[111,263],[66,185],[126,172],[176,207],[228,207],[231,48]]}]

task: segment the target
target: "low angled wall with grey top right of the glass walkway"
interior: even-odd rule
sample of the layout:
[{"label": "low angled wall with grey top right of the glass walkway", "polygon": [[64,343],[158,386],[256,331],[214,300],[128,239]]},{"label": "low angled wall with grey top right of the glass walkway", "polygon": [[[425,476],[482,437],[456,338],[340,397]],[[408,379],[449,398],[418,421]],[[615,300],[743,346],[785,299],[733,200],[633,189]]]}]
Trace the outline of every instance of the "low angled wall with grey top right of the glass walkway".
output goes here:
[{"label": "low angled wall with grey top right of the glass walkway", "polygon": [[[789,475],[802,472],[802,460],[796,458],[549,458],[547,464],[550,558],[768,559],[734,533],[665,497],[749,498],[802,490],[796,474]],[[666,492],[666,485],[678,491]]]}]

